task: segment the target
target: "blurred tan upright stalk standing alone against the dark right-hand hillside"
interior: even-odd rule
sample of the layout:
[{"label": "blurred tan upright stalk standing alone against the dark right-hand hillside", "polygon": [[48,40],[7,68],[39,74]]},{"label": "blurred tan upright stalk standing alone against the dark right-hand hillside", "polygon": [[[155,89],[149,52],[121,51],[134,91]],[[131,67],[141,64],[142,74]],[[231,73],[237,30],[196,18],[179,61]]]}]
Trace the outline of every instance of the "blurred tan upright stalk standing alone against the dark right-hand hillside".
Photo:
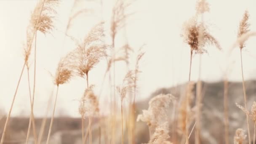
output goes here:
[{"label": "blurred tan upright stalk standing alone against the dark right-hand hillside", "polygon": [[224,80],[224,125],[225,125],[225,144],[229,144],[229,107],[228,107],[228,81]]}]

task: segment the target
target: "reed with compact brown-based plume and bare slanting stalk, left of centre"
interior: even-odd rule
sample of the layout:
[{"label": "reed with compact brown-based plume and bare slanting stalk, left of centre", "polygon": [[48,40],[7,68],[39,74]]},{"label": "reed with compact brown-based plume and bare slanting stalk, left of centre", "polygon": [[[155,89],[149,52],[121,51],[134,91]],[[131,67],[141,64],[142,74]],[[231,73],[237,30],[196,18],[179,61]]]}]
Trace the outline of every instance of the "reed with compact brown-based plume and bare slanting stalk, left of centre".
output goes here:
[{"label": "reed with compact brown-based plume and bare slanting stalk, left of centre", "polygon": [[56,96],[55,96],[55,101],[54,101],[54,106],[53,106],[53,113],[51,116],[51,123],[48,131],[48,136],[47,136],[47,141],[46,144],[49,143],[50,136],[51,136],[51,128],[53,125],[53,118],[54,118],[54,112],[55,112],[55,107],[56,107],[56,101],[57,101],[57,96],[58,96],[58,91],[59,91],[59,85],[65,84],[71,80],[72,76],[74,76],[74,70],[76,68],[76,53],[70,52],[67,54],[67,56],[61,58],[59,61],[57,70],[56,70],[56,75],[54,78],[54,84],[57,86],[57,91],[56,91]]}]

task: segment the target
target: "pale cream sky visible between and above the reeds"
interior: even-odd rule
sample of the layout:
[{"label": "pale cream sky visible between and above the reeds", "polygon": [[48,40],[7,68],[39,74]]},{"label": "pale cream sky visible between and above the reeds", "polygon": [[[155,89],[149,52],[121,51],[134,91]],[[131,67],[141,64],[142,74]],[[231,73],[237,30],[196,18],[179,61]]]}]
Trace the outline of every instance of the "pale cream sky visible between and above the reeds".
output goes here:
[{"label": "pale cream sky visible between and above the reeds", "polygon": [[[83,1],[83,0],[82,0]],[[94,0],[97,1],[97,0]],[[99,1],[99,0],[98,0]],[[102,18],[109,21],[112,0],[103,0],[103,15],[100,3],[84,0],[80,8],[89,8],[93,12],[81,15],[72,24],[69,35],[83,39],[88,30]],[[208,54],[202,57],[202,79],[205,81],[219,81],[225,75],[227,66],[231,71],[227,74],[229,80],[240,81],[239,48],[227,55],[227,49],[235,42],[237,27],[245,10],[250,13],[251,30],[256,31],[256,1],[255,0],[207,0],[210,13],[205,13],[205,23],[210,33],[219,40],[223,51],[215,47],[208,47]],[[111,2],[111,3],[110,3]],[[196,0],[137,0],[129,11],[136,12],[127,20],[126,33],[128,42],[137,51],[140,45],[146,52],[141,61],[141,75],[139,76],[139,93],[137,98],[144,99],[150,93],[162,87],[184,83],[188,80],[189,46],[183,42],[181,35],[182,24],[195,15]],[[26,28],[30,14],[37,0],[0,0],[0,109],[6,112],[10,108],[11,100],[21,72],[23,59],[23,43],[26,40]],[[37,79],[35,93],[35,116],[43,116],[46,105],[53,89],[53,80],[49,72],[55,70],[61,56],[75,48],[75,44],[64,36],[64,30],[70,15],[73,0],[62,0],[56,9],[57,17],[55,29],[50,35],[37,35]],[[123,35],[118,35],[117,48],[123,43]],[[256,37],[248,40],[243,51],[245,80],[256,78]],[[33,53],[32,53],[33,56]],[[136,54],[131,59],[136,58]],[[192,80],[198,77],[198,56],[192,61]],[[33,59],[31,58],[30,81],[33,81]],[[133,62],[131,63],[131,68]],[[102,61],[90,72],[89,83],[96,85],[99,92],[106,62]],[[116,64],[116,83],[122,82],[125,75],[125,64]],[[32,86],[32,84],[31,84]],[[61,85],[56,106],[56,112],[70,116],[78,115],[78,100],[83,95],[85,80],[75,77],[70,83]],[[106,79],[101,101],[107,101],[108,81]],[[56,89],[56,88],[55,88]],[[101,102],[104,107],[106,102]],[[107,107],[107,106],[105,106]],[[27,70],[21,79],[19,91],[12,116],[29,115],[29,95]]]}]

